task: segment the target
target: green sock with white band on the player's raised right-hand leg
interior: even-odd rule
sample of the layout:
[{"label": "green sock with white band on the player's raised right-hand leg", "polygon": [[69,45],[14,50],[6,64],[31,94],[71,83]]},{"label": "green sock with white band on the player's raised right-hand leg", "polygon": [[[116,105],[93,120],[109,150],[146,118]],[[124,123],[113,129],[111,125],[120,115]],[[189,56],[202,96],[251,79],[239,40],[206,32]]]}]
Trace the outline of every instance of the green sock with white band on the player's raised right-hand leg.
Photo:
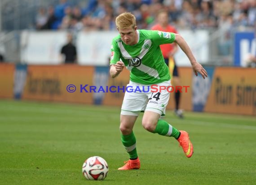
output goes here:
[{"label": "green sock with white band on the player's raised right-hand leg", "polygon": [[180,131],[162,119],[158,120],[154,133],[158,133],[162,136],[174,137],[175,139],[180,135]]}]

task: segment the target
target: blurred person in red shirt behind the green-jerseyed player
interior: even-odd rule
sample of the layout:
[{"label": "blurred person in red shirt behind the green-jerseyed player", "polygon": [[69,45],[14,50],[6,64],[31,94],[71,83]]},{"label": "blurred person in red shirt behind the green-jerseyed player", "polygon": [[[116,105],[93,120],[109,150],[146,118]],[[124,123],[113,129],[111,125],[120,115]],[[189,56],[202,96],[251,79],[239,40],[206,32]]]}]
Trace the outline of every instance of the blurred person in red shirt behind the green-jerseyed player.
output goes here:
[{"label": "blurred person in red shirt behind the green-jerseyed player", "polygon": [[[172,32],[177,34],[177,30],[175,27],[169,24],[168,19],[168,12],[166,11],[160,11],[157,14],[157,22],[158,24],[154,25],[151,29],[152,30],[159,30],[159,31],[165,31],[165,32]],[[172,74],[172,82],[176,86],[181,86],[181,81],[179,78],[179,73],[177,70],[176,62],[174,61],[174,54],[177,52],[178,47],[176,43],[172,44],[162,44],[160,45],[161,51],[163,53],[163,58],[166,63],[166,65],[170,68],[170,73]],[[183,112],[179,109],[180,106],[180,97],[181,92],[175,91],[175,110],[174,113],[179,118],[183,118]]]}]

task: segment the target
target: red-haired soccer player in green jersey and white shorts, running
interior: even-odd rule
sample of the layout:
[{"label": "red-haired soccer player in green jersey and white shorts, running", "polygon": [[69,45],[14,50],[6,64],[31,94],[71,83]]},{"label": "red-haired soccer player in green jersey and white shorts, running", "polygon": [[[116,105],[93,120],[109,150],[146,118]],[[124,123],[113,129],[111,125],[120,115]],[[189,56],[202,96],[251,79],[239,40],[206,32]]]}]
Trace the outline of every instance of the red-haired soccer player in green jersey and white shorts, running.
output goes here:
[{"label": "red-haired soccer player in green jersey and white shorts, running", "polygon": [[[122,13],[115,20],[119,35],[112,40],[110,58],[110,76],[117,77],[124,66],[130,70],[128,86],[141,91],[124,95],[120,115],[121,140],[129,154],[129,160],[119,170],[139,169],[141,166],[137,155],[136,137],[132,131],[134,123],[141,111],[144,111],[142,126],[147,131],[162,136],[174,137],[180,143],[186,157],[193,154],[193,145],[189,134],[179,131],[169,123],[160,119],[165,115],[170,93],[163,90],[152,93],[145,92],[145,86],[171,85],[168,66],[165,64],[160,44],[177,43],[189,58],[195,75],[200,73],[203,78],[207,72],[194,58],[188,44],[181,35],[171,32],[137,30],[136,18],[131,13]],[[155,87],[155,86],[154,86]],[[130,88],[130,87],[129,87]]]}]

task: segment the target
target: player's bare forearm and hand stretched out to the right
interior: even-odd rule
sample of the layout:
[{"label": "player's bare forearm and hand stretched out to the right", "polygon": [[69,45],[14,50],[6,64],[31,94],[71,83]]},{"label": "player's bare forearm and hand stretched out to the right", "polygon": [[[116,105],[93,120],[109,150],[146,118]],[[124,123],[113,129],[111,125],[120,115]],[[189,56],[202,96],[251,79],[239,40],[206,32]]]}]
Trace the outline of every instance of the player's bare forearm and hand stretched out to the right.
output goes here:
[{"label": "player's bare forearm and hand stretched out to the right", "polygon": [[203,66],[201,64],[199,64],[189,45],[186,43],[186,41],[183,39],[183,37],[179,34],[175,34],[175,40],[174,40],[175,43],[177,43],[180,48],[182,49],[182,51],[186,54],[186,56],[189,58],[190,60],[190,63],[192,65],[192,68],[194,70],[194,74],[197,76],[198,73],[200,73],[202,76],[203,76],[203,79],[205,79],[205,77],[207,77],[207,71],[203,68]]}]

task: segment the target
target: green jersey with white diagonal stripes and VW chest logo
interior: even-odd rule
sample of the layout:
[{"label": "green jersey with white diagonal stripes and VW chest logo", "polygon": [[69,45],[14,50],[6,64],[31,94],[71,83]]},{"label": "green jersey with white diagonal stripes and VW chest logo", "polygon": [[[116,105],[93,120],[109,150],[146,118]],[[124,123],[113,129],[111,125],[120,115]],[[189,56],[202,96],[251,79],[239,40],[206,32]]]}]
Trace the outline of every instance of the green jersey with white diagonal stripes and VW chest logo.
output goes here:
[{"label": "green jersey with white diagonal stripes and VW chest logo", "polygon": [[127,45],[118,35],[112,40],[110,65],[120,59],[130,70],[130,80],[138,84],[159,84],[170,79],[159,45],[171,44],[174,33],[152,30],[137,30],[138,43]]}]

